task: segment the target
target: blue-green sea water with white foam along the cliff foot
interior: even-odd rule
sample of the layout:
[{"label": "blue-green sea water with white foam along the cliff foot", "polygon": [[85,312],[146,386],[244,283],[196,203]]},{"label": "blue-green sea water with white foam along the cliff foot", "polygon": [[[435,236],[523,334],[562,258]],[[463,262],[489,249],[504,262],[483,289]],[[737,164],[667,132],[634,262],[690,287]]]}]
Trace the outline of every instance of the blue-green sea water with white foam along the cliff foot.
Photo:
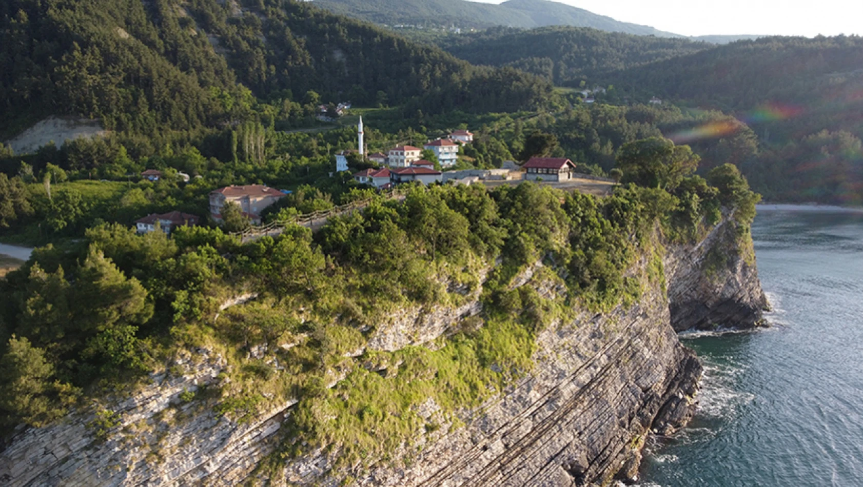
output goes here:
[{"label": "blue-green sea water with white foam along the cliff foot", "polygon": [[762,208],[753,240],[773,328],[685,336],[699,409],[642,486],[863,486],[863,214]]}]

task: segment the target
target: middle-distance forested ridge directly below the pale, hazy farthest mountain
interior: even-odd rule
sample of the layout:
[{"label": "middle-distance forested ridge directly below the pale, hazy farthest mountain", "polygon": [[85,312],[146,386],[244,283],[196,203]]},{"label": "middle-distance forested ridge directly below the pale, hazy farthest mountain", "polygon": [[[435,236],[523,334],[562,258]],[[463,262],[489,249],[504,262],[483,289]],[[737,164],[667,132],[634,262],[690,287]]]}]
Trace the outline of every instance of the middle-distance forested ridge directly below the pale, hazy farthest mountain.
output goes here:
[{"label": "middle-distance forested ridge directly below the pale, hazy farthest mountain", "polygon": [[595,83],[609,72],[713,47],[685,39],[602,32],[595,28],[489,28],[447,36],[438,45],[474,64],[513,66],[558,85]]}]

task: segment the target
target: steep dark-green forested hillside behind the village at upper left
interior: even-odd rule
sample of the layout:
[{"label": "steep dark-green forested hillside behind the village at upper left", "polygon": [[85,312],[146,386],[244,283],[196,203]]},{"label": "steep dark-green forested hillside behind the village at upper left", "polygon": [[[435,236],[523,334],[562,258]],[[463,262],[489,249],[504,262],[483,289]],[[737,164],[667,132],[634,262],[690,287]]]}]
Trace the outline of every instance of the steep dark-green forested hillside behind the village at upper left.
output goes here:
[{"label": "steep dark-green forested hillside behind the village at upper left", "polygon": [[152,134],[243,119],[259,102],[283,117],[339,97],[437,113],[535,108],[550,93],[306,3],[0,2],[0,109],[17,115],[0,121],[6,134],[48,114]]}]

